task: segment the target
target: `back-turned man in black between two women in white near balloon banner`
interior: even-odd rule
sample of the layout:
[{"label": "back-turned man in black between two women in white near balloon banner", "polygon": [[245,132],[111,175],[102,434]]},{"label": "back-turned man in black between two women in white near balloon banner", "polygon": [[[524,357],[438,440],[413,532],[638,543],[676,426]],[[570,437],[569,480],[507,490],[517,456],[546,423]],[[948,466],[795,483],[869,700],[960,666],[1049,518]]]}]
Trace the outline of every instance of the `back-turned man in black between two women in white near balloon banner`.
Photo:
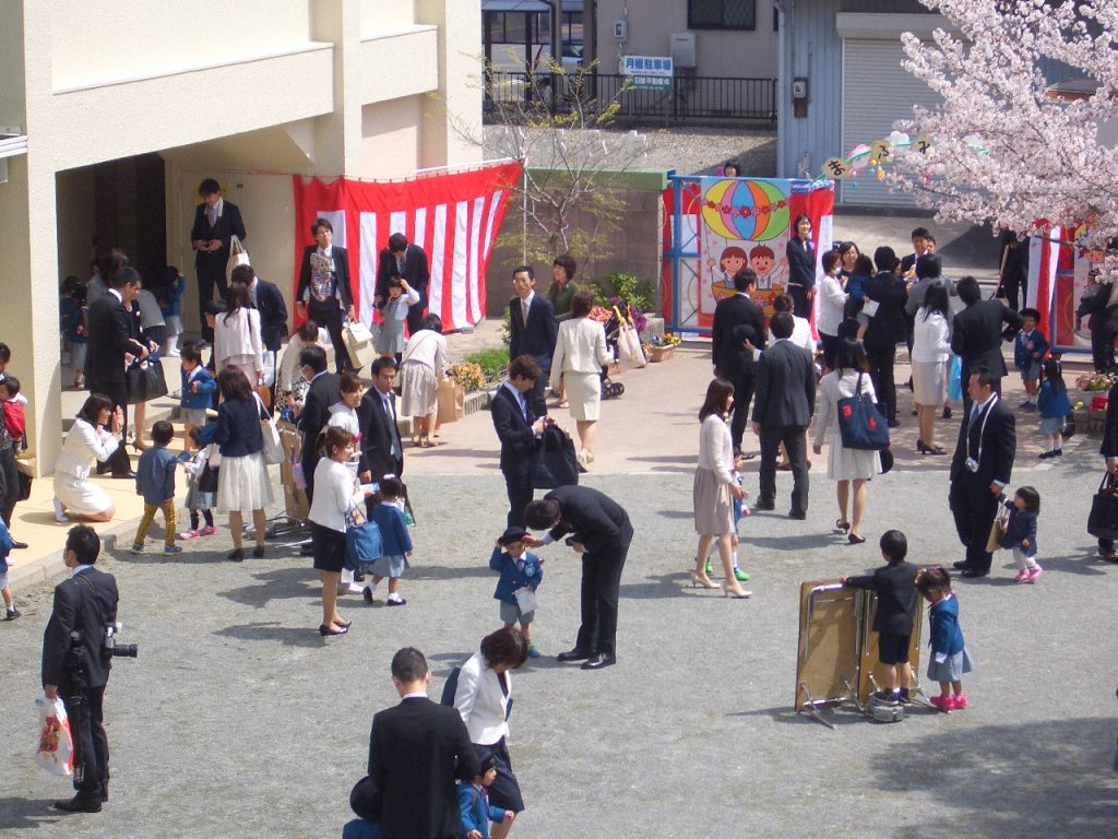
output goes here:
[{"label": "back-turned man in black between two women in white near balloon banner", "polygon": [[900,261],[891,247],[879,247],[873,252],[878,274],[865,281],[862,287],[866,299],[878,304],[865,329],[865,356],[870,361],[870,378],[873,392],[885,408],[889,427],[900,425],[897,420],[897,384],[893,380],[893,365],[897,345],[904,340],[908,327],[904,321],[904,303],[908,289],[900,276]]}]

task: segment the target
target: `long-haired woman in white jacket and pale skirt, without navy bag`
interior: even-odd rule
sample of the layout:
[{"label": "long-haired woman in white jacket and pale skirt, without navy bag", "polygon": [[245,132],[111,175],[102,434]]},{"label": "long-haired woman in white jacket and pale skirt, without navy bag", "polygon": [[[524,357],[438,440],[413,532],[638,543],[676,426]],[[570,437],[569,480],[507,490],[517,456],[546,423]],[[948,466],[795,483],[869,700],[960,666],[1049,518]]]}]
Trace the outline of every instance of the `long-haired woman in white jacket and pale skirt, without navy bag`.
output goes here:
[{"label": "long-haired woman in white jacket and pale skirt, without navy bag", "polygon": [[936,412],[946,404],[950,358],[948,292],[945,286],[934,283],[928,286],[912,327],[912,390],[920,424],[916,449],[920,454],[946,454],[936,445]]}]

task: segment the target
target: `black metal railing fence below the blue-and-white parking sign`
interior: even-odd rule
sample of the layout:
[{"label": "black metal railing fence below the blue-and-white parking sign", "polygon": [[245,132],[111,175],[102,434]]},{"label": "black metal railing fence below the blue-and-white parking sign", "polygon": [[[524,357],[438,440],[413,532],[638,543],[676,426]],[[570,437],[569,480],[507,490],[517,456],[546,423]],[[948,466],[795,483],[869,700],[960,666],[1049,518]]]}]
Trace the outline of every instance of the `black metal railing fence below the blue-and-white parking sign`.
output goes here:
[{"label": "black metal railing fence below the blue-and-white parking sign", "polygon": [[[555,93],[558,92],[558,95]],[[636,89],[628,76],[606,73],[551,75],[493,72],[485,83],[484,114],[569,113],[577,101],[605,107],[616,101],[619,120],[670,123],[733,120],[776,124],[776,79],[676,76],[665,91]]]}]

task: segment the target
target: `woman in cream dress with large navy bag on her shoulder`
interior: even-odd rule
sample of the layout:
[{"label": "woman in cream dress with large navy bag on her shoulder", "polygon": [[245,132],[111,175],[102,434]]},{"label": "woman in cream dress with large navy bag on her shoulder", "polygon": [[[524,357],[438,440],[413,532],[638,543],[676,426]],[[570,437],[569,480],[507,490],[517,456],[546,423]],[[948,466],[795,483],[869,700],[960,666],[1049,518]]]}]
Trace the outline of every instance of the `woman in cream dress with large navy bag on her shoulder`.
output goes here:
[{"label": "woman in cream dress with large navy bag on her shoulder", "polygon": [[[839,400],[869,394],[874,402],[873,381],[870,380],[870,362],[859,341],[843,341],[835,355],[835,369],[819,381],[819,413],[815,417],[816,454],[823,453],[823,441],[831,432],[831,452],[827,456],[827,478],[839,482],[839,520],[835,528],[849,531],[847,541],[861,545],[865,537],[861,534],[862,513],[865,510],[865,482],[878,471],[878,453],[862,449],[846,449],[842,444],[839,430]],[[853,510],[846,517],[853,484]]]}]

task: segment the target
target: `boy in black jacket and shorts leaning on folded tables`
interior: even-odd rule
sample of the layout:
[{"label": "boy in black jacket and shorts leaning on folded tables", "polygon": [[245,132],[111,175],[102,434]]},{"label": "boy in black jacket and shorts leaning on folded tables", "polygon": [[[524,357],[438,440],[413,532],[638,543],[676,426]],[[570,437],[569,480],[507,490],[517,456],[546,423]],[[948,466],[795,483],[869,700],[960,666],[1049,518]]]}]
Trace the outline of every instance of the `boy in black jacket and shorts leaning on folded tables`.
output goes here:
[{"label": "boy in black jacket and shorts leaning on folded tables", "polygon": [[[887,565],[863,577],[843,577],[847,588],[864,588],[878,595],[873,631],[878,633],[878,658],[884,669],[881,690],[873,696],[890,704],[908,703],[912,668],[908,651],[912,639],[912,616],[919,596],[916,591],[918,568],[904,562],[908,539],[900,530],[885,530],[879,543]],[[900,679],[898,679],[898,669]]]}]

